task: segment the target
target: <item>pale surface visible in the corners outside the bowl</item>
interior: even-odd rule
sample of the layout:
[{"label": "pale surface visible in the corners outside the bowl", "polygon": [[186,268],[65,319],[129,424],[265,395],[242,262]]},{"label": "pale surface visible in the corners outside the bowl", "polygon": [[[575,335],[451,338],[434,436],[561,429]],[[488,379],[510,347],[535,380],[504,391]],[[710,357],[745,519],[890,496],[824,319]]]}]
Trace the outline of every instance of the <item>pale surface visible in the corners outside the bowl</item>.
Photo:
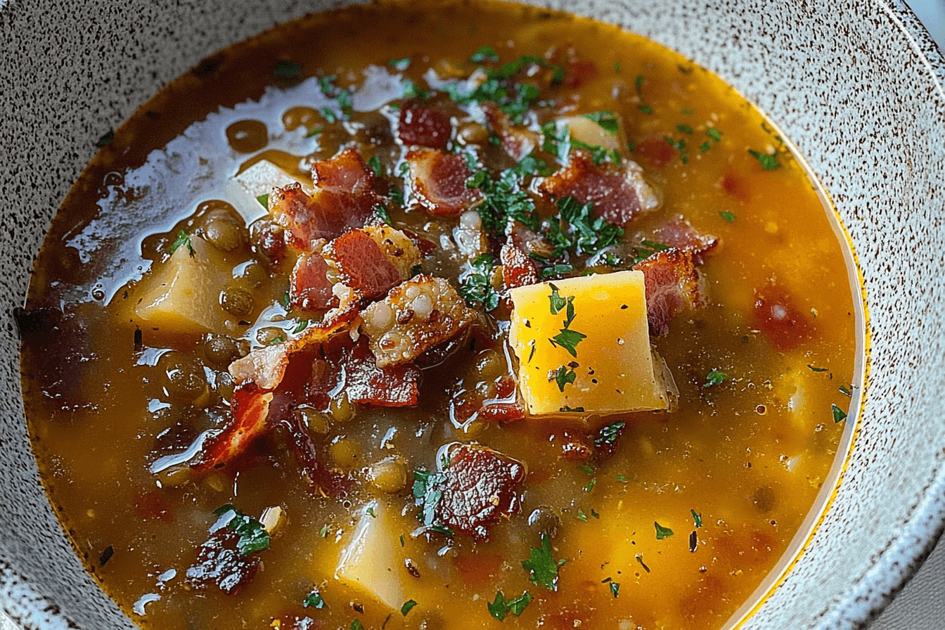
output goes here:
[{"label": "pale surface visible in the corners outside the bowl", "polygon": [[[905,0],[905,2],[919,15],[938,46],[945,50],[945,0]],[[0,0],[0,9],[6,4],[7,0]],[[923,621],[919,621],[919,613]],[[870,630],[943,629],[945,629],[945,540],[939,541],[936,550],[912,582],[906,585],[899,597],[870,626]],[[18,630],[3,612],[0,612],[0,630]]]}]

